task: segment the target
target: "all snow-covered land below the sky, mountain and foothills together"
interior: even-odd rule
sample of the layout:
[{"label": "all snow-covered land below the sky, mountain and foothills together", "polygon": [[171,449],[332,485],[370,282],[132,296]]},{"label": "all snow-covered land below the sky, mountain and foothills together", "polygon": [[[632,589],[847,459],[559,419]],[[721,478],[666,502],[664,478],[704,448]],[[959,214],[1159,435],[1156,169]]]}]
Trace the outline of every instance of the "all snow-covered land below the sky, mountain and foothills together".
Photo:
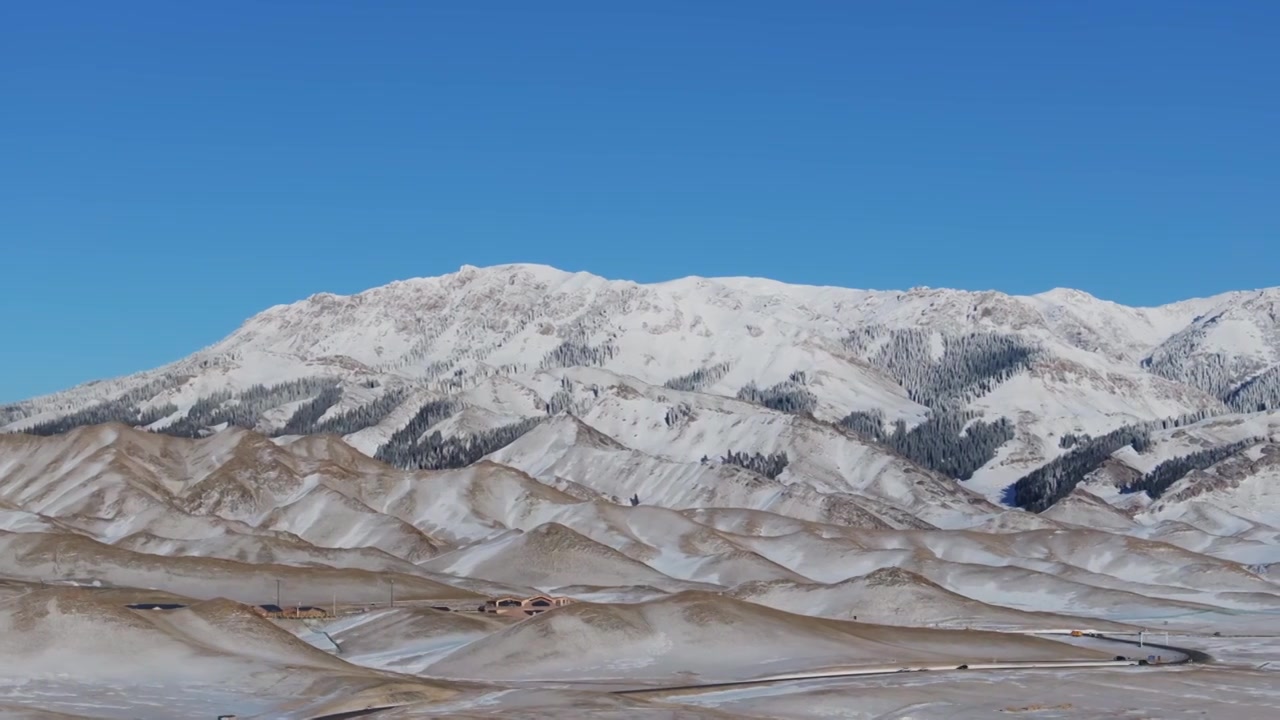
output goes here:
[{"label": "all snow-covered land below the sky, mountain and foothills together", "polygon": [[[0,407],[5,430],[64,421],[0,434],[0,716],[1271,716],[1280,413],[1224,398],[1280,360],[1277,299],[1134,309],[511,265],[273,307],[174,365]],[[947,413],[972,414],[965,433],[1010,423],[972,479],[938,470],[969,446],[933,437],[929,457],[867,429]],[[374,459],[416,466],[532,418],[465,466]],[[1149,442],[1064,464],[1043,512],[1001,505],[1134,423]],[[365,611],[269,623],[239,605],[278,587]],[[534,592],[576,602],[474,611]],[[1046,628],[1169,632],[1216,662],[608,692],[1108,656],[995,632]]]}]

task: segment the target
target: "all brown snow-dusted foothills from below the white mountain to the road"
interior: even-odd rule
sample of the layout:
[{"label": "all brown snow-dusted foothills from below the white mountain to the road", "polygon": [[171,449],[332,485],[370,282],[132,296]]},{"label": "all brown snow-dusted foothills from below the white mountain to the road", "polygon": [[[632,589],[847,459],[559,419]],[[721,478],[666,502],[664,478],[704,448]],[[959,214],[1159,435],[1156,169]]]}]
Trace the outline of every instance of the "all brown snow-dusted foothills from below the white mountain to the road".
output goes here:
[{"label": "all brown snow-dusted foothills from below the white mountain to the road", "polygon": [[[234,427],[0,436],[0,669],[20,678],[0,680],[0,715],[456,716],[526,693],[576,708],[614,685],[1130,652],[1021,634],[1046,629],[1280,633],[1280,454],[1257,439],[1272,415],[1151,432],[1148,474],[1204,465],[1155,498],[1107,484],[1146,477],[1129,448],[1032,514],[809,416],[559,377],[598,384],[596,404],[465,468]],[[627,410],[660,392],[687,405],[669,425]],[[764,452],[703,460],[708,437]],[[535,592],[576,602],[477,610]],[[239,605],[276,593],[337,618]]]}]

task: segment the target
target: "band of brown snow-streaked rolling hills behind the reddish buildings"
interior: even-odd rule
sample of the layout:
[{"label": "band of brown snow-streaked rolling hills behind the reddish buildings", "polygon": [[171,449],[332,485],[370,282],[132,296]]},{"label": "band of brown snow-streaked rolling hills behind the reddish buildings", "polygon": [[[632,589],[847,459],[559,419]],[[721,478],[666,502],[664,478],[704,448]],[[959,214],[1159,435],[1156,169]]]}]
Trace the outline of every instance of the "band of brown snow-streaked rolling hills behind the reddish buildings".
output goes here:
[{"label": "band of brown snow-streaked rolling hills behind the reddish buildings", "polygon": [[[801,421],[774,415],[783,425]],[[680,482],[672,482],[662,470],[668,461],[593,432],[585,421],[557,418],[535,430],[541,436],[526,436],[536,442],[511,446],[509,457],[430,473],[396,470],[333,437],[270,443],[227,430],[193,441],[124,427],[17,436],[5,441],[0,501],[14,507],[6,516],[20,532],[0,534],[10,559],[3,573],[180,585],[179,592],[195,597],[228,594],[229,584],[239,583],[233,597],[259,601],[271,597],[273,573],[291,573],[298,582],[311,578],[306,589],[315,597],[308,601],[324,602],[335,591],[352,600],[383,597],[383,580],[358,587],[358,578],[374,570],[397,573],[404,592],[417,588],[412,592],[430,596],[532,587],[576,587],[590,594],[640,585],[840,583],[902,568],[972,600],[1020,610],[1114,616],[1107,602],[1133,607],[1143,598],[1164,598],[1248,611],[1280,602],[1280,585],[1236,562],[1262,564],[1280,544],[1275,529],[1260,523],[1240,519],[1239,537],[1228,541],[1197,530],[1185,516],[1126,524],[1125,515],[1083,495],[1080,509],[1073,501],[1051,518],[977,501],[968,530],[850,523],[847,512],[831,511],[842,496],[785,484],[786,473],[780,480],[750,473],[735,479],[698,462],[687,465],[696,471],[680,470],[671,475]],[[242,452],[246,447],[252,452]],[[596,462],[598,454],[621,457]],[[497,461],[520,457],[550,464],[529,465],[534,477]],[[270,469],[265,487],[253,484],[257,464]],[[614,469],[623,473],[611,477]],[[207,489],[210,478],[232,478],[229,487],[248,495],[232,502],[234,493]],[[193,489],[204,493],[200,502],[184,495]],[[678,511],[611,497],[622,492],[664,493]],[[884,512],[892,507],[887,502],[855,500],[841,502],[867,507],[867,518],[897,518]],[[910,518],[906,510],[896,512]],[[419,548],[426,541],[388,542],[388,528],[431,538],[436,550],[424,557]],[[1020,598],[992,592],[991,583],[1006,582],[1060,589]],[[1098,600],[1062,602],[1093,596]]]}]

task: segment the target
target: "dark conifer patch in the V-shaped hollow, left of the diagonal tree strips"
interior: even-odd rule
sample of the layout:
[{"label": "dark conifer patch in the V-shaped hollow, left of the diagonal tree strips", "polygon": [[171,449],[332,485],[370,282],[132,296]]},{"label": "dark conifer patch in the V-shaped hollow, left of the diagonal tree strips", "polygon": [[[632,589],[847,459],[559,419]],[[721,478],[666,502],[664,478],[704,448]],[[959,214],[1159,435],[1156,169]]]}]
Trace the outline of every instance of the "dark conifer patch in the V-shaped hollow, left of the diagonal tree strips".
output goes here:
[{"label": "dark conifer patch in the V-shaped hollow, left of the diagonal tree strips", "polygon": [[884,415],[872,410],[850,413],[840,424],[893,448],[916,465],[968,480],[996,456],[1000,446],[1014,438],[1014,424],[1007,418],[993,423],[978,418],[977,413],[941,410],[911,429],[899,420],[892,432],[886,432]]}]

